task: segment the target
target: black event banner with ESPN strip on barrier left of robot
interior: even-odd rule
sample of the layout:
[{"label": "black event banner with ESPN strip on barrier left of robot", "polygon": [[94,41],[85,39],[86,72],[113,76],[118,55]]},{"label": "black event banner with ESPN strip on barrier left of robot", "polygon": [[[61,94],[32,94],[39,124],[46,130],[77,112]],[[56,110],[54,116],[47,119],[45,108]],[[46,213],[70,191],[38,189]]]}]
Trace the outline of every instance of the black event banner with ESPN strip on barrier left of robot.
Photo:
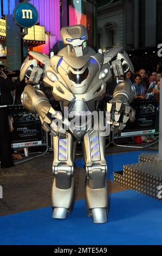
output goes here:
[{"label": "black event banner with ESPN strip on barrier left of robot", "polygon": [[12,148],[42,145],[42,128],[37,114],[23,106],[9,106]]}]

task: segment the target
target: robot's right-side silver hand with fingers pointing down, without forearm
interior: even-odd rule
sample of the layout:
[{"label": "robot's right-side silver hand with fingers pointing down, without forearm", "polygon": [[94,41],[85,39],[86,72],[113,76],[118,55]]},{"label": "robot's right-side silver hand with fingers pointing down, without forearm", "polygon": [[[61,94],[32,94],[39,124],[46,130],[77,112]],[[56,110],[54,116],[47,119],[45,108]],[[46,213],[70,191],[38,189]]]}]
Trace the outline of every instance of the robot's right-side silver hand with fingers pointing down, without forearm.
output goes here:
[{"label": "robot's right-side silver hand with fingers pointing down, without forearm", "polygon": [[122,131],[126,127],[126,123],[129,119],[129,112],[131,107],[122,103],[121,101],[110,101],[107,103],[107,112],[109,113],[108,124],[111,124],[111,131]]}]

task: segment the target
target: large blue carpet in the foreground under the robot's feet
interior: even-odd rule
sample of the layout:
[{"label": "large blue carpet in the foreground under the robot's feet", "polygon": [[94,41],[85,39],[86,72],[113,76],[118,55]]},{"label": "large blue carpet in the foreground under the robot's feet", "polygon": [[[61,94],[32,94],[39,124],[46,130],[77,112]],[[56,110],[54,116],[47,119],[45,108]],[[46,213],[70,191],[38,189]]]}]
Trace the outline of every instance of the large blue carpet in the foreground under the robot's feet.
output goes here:
[{"label": "large blue carpet in the foreground under the robot's feet", "polygon": [[67,220],[51,208],[0,217],[1,245],[162,245],[162,204],[138,192],[111,194],[108,223],[93,224],[84,200]]}]

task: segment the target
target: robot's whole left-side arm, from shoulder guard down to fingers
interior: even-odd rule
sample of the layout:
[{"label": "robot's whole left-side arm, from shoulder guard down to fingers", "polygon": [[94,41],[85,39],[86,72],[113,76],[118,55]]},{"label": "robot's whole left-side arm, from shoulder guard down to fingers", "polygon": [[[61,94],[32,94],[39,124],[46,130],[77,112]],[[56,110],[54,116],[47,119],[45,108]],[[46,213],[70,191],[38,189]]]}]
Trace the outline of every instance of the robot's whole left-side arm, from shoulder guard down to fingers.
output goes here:
[{"label": "robot's whole left-side arm, from shoulder guard down to fingers", "polygon": [[[50,65],[49,58],[38,52],[29,52],[31,56],[40,60],[44,65]],[[62,120],[62,115],[51,107],[47,96],[31,84],[39,84],[42,79],[43,69],[37,66],[36,59],[27,57],[22,64],[20,72],[20,81],[23,80],[27,70],[31,70],[28,85],[24,88],[21,100],[25,108],[31,112],[38,113],[42,127],[45,131],[51,132],[51,135],[59,135],[58,127],[54,120]],[[30,84],[31,83],[31,84]],[[63,131],[63,130],[62,130]]]}]

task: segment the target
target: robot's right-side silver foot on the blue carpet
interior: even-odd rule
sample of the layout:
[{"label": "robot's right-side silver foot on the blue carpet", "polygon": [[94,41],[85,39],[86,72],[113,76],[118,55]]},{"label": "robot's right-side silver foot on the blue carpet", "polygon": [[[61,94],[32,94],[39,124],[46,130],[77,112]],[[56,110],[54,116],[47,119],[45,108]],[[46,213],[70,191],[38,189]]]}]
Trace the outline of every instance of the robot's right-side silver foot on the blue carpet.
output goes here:
[{"label": "robot's right-side silver foot on the blue carpet", "polygon": [[93,223],[106,223],[107,222],[107,209],[106,208],[94,208],[91,209]]}]

